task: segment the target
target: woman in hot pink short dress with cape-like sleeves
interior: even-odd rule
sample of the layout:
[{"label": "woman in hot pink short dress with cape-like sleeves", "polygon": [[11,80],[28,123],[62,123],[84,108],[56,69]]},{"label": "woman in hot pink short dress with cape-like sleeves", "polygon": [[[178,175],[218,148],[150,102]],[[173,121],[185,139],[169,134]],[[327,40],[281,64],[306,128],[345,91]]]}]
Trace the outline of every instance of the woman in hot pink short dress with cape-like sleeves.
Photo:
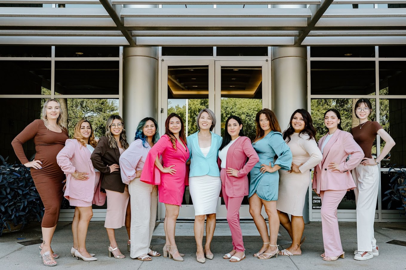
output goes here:
[{"label": "woman in hot pink short dress with cape-like sleeves", "polygon": [[[162,155],[163,166],[159,161]],[[159,201],[165,204],[164,257],[183,261],[175,243],[175,225],[182,204],[185,184],[188,183],[186,161],[189,159],[185,128],[181,117],[171,113],[165,121],[165,134],[151,148],[145,160],[141,181],[158,185]],[[168,247],[169,246],[169,247]]]}]

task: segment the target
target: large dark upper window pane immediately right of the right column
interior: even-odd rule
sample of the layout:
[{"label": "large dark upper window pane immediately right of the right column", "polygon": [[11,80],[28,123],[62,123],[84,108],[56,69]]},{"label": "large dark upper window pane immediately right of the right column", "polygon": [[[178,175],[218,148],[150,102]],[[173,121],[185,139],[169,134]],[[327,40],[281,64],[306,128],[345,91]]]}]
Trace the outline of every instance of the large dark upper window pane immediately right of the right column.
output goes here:
[{"label": "large dark upper window pane immediately right of the right column", "polygon": [[311,61],[312,95],[375,94],[375,62]]}]

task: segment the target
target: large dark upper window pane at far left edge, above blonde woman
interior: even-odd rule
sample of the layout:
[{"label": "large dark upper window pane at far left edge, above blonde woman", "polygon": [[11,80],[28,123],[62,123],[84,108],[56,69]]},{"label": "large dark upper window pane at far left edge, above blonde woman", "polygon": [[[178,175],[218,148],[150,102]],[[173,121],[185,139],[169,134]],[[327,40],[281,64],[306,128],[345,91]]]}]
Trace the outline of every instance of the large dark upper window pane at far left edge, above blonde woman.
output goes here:
[{"label": "large dark upper window pane at far left edge, above blonde woman", "polygon": [[51,61],[0,61],[0,80],[2,95],[48,94]]}]

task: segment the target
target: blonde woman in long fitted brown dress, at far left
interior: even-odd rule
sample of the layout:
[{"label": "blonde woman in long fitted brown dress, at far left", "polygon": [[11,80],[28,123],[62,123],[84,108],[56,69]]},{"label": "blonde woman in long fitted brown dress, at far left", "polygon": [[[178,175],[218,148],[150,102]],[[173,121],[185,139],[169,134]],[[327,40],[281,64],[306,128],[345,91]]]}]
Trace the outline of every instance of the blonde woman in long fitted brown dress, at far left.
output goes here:
[{"label": "blonde woman in long fitted brown dress, at far left", "polygon": [[[63,126],[63,111],[58,100],[49,99],[42,108],[41,119],[30,123],[11,142],[15,154],[24,166],[31,168],[32,179],[45,207],[42,219],[42,237],[40,253],[46,266],[56,265],[59,256],[51,249],[51,240],[59,219],[60,204],[63,199],[65,174],[56,163],[56,155],[69,139],[68,131]],[[29,162],[23,144],[34,139],[35,158]]]}]

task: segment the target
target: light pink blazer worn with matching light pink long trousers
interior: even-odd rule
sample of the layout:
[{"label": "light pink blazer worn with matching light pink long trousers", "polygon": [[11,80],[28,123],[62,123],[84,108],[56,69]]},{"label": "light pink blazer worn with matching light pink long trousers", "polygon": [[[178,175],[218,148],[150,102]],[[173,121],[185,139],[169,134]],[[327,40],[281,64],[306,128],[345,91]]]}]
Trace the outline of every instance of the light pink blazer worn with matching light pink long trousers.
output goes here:
[{"label": "light pink blazer worn with matching light pink long trousers", "polygon": [[[324,135],[319,140],[319,149],[322,149]],[[351,155],[346,161],[348,155]],[[350,170],[354,169],[364,157],[361,147],[354,141],[349,132],[336,130],[323,149],[322,162],[314,168],[313,189],[320,190],[344,190],[354,189],[355,183]],[[329,162],[339,164],[339,171],[328,169]]]}]

